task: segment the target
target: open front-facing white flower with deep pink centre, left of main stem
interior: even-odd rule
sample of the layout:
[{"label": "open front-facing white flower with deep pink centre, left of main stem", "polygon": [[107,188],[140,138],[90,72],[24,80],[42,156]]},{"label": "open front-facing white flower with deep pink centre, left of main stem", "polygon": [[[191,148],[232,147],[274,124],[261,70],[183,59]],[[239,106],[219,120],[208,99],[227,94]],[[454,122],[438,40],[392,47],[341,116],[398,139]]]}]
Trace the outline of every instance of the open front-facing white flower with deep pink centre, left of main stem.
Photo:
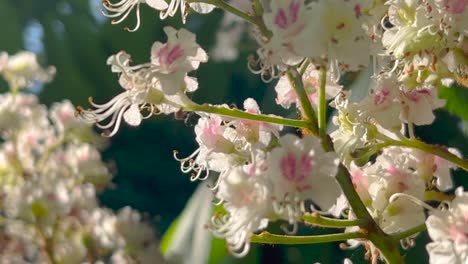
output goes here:
[{"label": "open front-facing white flower with deep pink centre, left of main stem", "polygon": [[298,138],[287,134],[279,139],[281,147],[268,154],[265,174],[271,179],[275,213],[295,225],[304,213],[304,201],[312,200],[328,211],[341,194],[335,174],[339,159],[325,152],[312,136]]}]

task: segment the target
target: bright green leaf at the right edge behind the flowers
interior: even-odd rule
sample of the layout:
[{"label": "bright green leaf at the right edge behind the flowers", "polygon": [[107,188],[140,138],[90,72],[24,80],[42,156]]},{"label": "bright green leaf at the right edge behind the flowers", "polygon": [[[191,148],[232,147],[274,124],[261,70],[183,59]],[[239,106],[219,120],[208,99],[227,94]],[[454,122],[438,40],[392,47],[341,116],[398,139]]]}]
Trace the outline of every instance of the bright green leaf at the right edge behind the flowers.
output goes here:
[{"label": "bright green leaf at the right edge behind the flowers", "polygon": [[439,97],[447,100],[445,109],[465,121],[468,121],[468,89],[459,85],[442,87]]}]

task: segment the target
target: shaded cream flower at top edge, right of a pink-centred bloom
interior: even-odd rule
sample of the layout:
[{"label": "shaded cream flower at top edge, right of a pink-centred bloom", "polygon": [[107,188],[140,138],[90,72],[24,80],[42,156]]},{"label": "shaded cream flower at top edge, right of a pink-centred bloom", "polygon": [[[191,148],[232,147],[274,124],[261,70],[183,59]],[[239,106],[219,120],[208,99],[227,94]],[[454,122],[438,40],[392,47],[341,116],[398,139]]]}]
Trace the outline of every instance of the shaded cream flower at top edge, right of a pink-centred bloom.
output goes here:
[{"label": "shaded cream flower at top edge, right of a pink-centred bloom", "polygon": [[365,67],[369,63],[370,39],[362,28],[361,10],[360,1],[313,1],[307,14],[307,30],[298,43],[300,55],[319,64],[325,59],[335,71]]}]

